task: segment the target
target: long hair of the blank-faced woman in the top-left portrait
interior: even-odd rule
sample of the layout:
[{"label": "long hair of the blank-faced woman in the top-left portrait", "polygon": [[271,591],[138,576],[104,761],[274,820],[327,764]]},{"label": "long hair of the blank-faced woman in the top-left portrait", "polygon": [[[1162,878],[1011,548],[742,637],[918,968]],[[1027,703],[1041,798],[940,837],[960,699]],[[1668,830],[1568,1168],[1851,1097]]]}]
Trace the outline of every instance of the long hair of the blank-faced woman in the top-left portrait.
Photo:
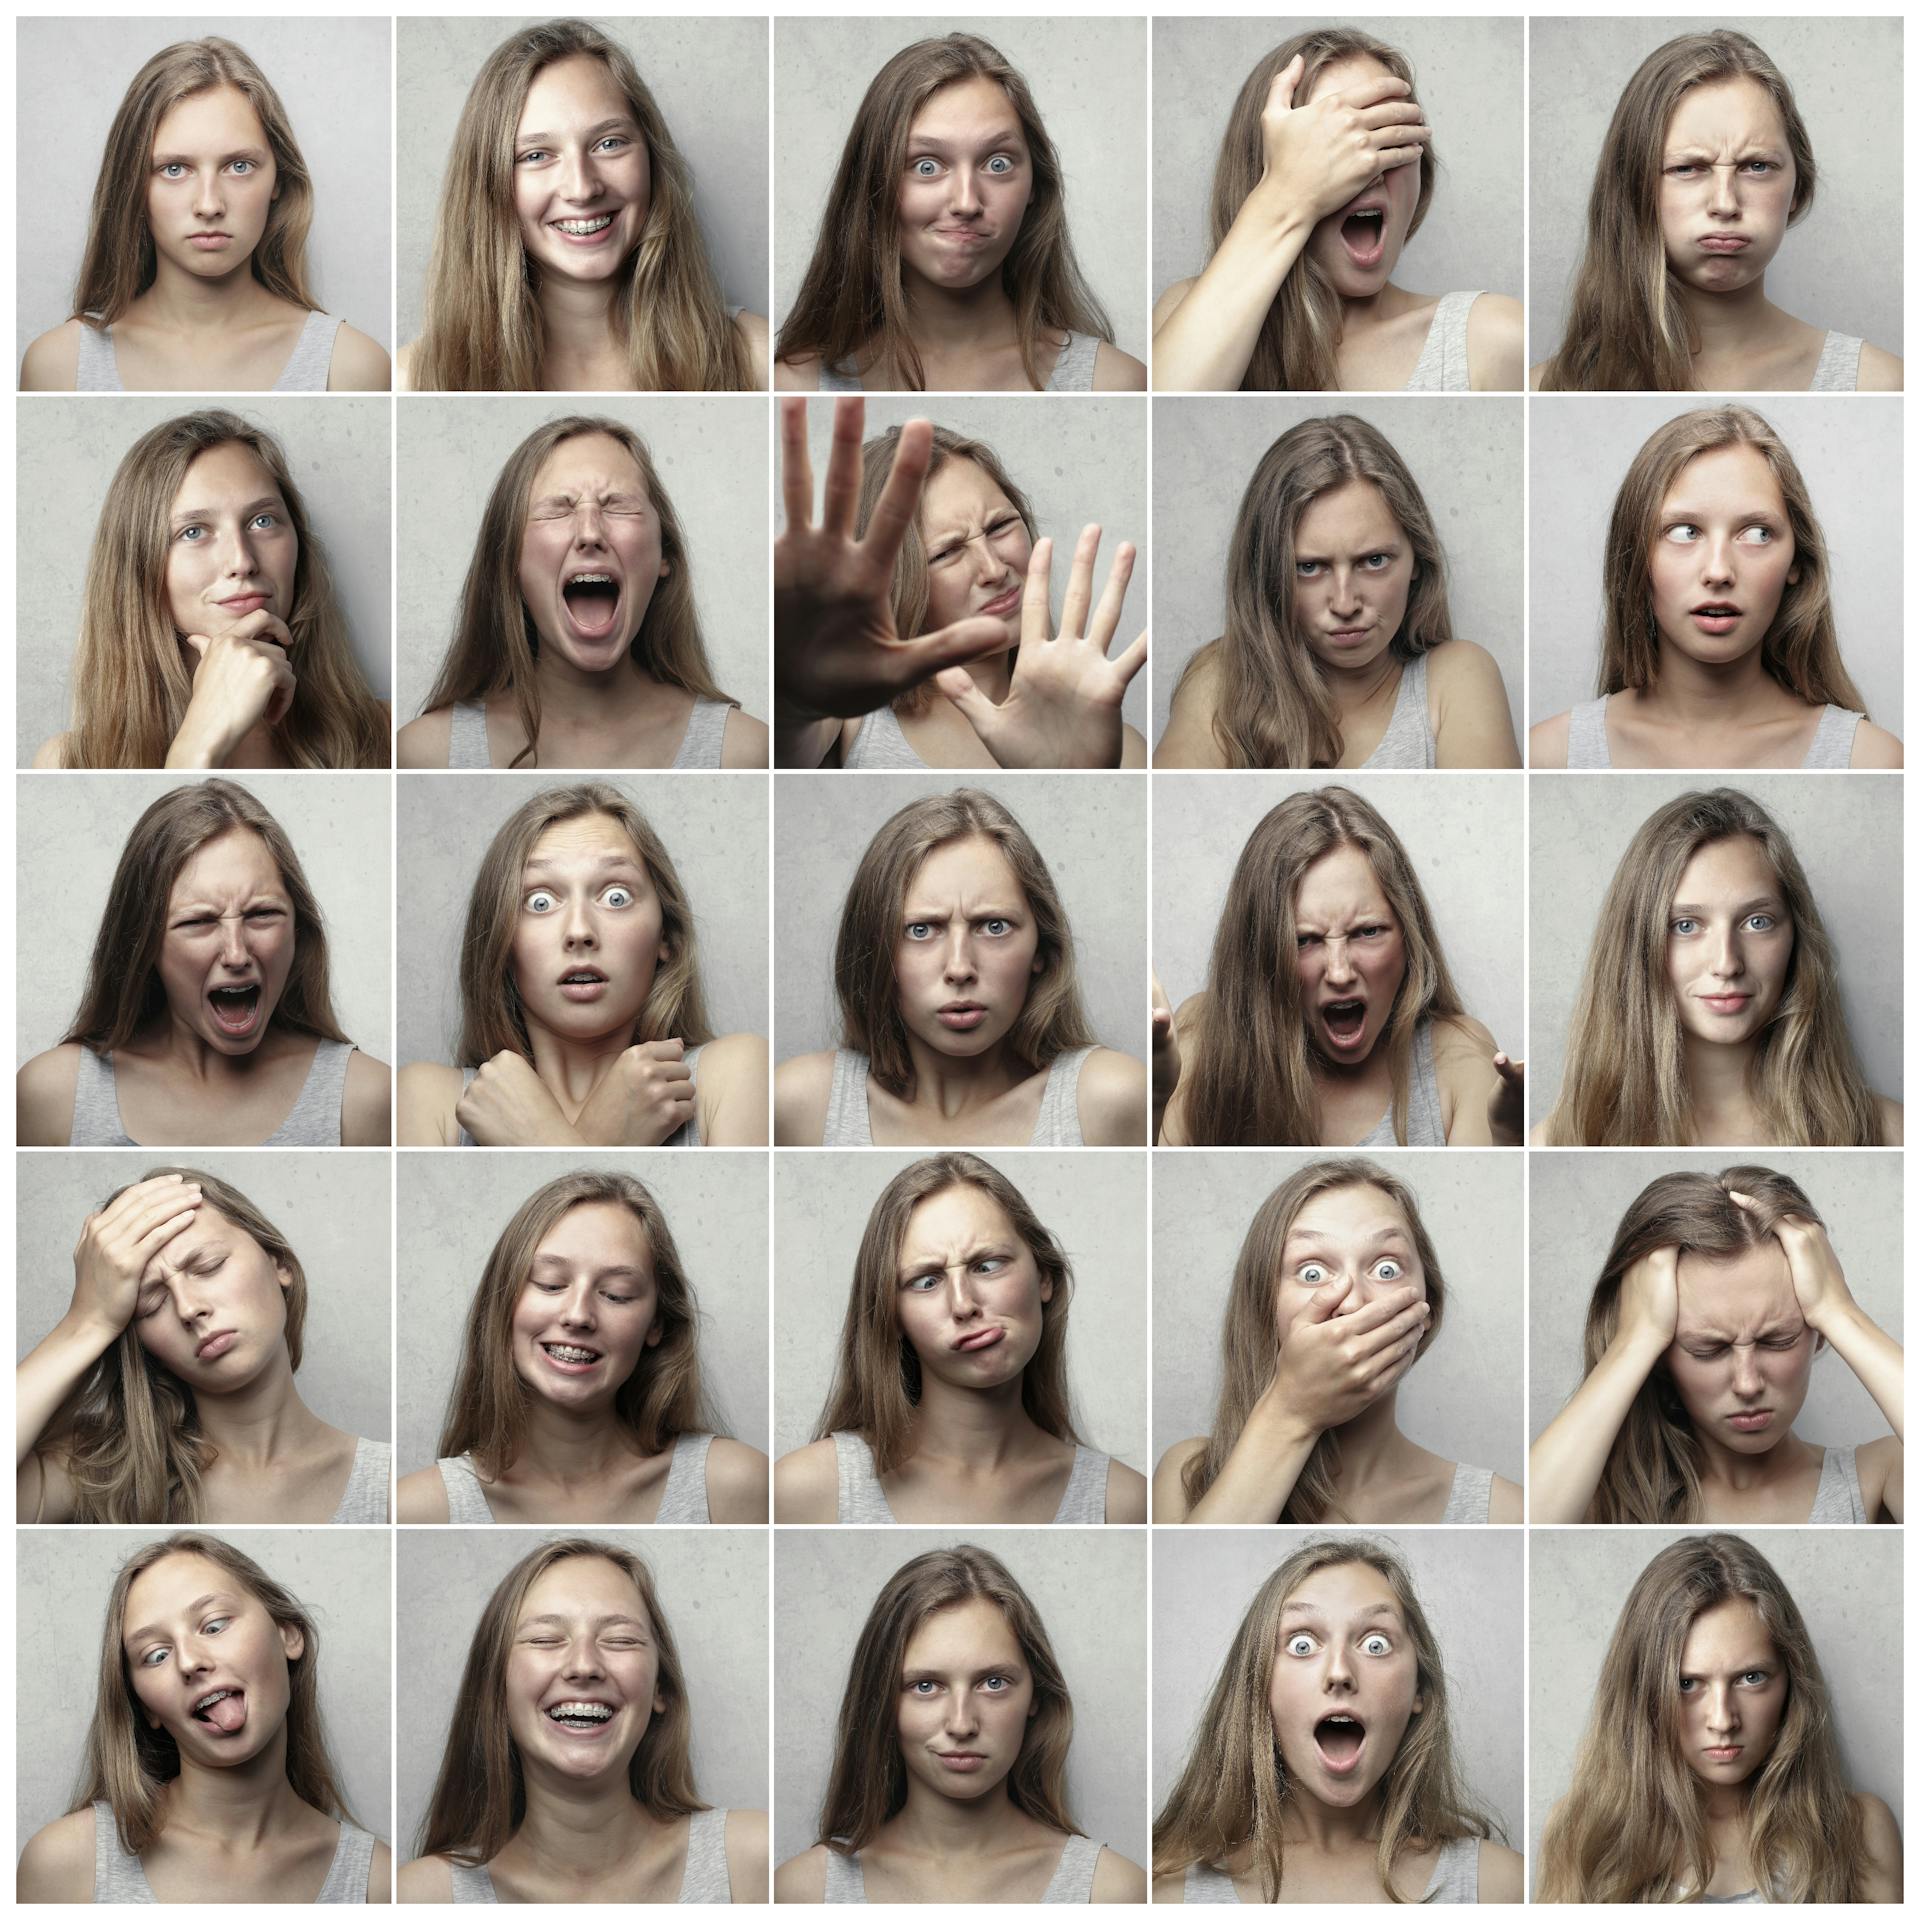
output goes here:
[{"label": "long hair of the blank-faced woman in the top-left portrait", "polygon": [[313,179],[300,157],[294,127],[267,75],[232,40],[209,35],[163,46],[132,77],[121,98],[94,180],[71,319],[111,326],[154,284],[159,259],[154,252],[154,228],[146,221],[154,136],[173,108],[215,86],[234,86],[246,94],[273,150],[275,198],[248,267],[275,300],[319,313],[321,303],[307,282]]}]

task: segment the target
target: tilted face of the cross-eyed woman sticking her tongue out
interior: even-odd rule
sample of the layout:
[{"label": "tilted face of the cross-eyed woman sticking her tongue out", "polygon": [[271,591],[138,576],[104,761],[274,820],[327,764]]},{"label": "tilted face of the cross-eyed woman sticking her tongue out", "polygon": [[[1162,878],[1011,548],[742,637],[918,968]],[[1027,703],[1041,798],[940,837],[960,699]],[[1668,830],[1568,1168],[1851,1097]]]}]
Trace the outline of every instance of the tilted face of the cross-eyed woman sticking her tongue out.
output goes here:
[{"label": "tilted face of the cross-eyed woman sticking her tongue out", "polygon": [[240,1766],[286,1724],[298,1626],[273,1615],[219,1561],[169,1553],[127,1588],[121,1647],[138,1713],[180,1759]]}]

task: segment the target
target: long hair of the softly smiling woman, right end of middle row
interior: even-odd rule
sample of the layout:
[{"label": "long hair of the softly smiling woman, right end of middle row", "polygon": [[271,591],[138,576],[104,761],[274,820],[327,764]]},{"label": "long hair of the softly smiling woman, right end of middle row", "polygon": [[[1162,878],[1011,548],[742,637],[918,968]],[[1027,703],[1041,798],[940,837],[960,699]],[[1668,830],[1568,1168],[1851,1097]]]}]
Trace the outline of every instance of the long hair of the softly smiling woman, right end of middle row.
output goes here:
[{"label": "long hair of the softly smiling woman, right end of middle row", "polygon": [[1793,922],[1780,1004],[1759,1037],[1749,1092],[1776,1146],[1880,1146],[1874,1092],[1853,1058],[1839,962],[1780,822],[1738,787],[1682,793],[1649,814],[1607,887],[1567,1035],[1549,1146],[1686,1146],[1693,1094],[1667,977],[1667,922],[1703,847],[1761,843]]}]

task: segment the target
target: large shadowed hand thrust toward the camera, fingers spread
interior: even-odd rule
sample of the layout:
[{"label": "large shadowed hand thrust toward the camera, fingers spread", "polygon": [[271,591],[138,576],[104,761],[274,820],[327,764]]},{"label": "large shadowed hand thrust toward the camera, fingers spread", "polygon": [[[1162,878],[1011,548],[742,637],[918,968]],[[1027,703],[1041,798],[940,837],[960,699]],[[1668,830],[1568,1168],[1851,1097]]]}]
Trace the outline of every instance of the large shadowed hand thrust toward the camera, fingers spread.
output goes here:
[{"label": "large shadowed hand thrust toward the camera, fingers spread", "polygon": [[893,630],[893,566],[920,509],[933,428],[925,420],[906,422],[866,538],[854,540],[864,420],[862,399],[835,403],[826,499],[820,526],[812,526],[806,403],[780,403],[787,530],[774,541],[776,730],[870,714],[943,666],[1006,645],[1006,624],[985,614],[920,639],[900,639]]}]

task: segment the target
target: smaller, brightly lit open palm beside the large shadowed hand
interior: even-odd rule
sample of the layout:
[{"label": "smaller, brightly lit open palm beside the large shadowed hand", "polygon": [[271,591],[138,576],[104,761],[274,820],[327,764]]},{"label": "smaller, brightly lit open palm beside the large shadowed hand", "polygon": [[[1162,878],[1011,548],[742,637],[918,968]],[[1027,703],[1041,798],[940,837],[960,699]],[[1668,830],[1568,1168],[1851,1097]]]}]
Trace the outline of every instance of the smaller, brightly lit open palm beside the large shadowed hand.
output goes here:
[{"label": "smaller, brightly lit open palm beside the large shadowed hand", "polygon": [[960,708],[981,745],[1000,766],[1119,766],[1123,730],[1119,703],[1127,682],[1146,664],[1146,636],[1127,647],[1117,660],[1106,657],[1119,626],[1119,605],[1133,578],[1135,549],[1121,545],[1106,591],[1087,624],[1092,601],[1092,563],[1100,551],[1100,528],[1081,532],[1073,549],[1073,572],[1060,609],[1060,637],[1048,637],[1052,624],[1050,574],[1054,543],[1043,540],[1027,563],[1027,591],[1020,605],[1020,653],[1014,655],[1014,682],[1006,701],[995,707],[964,666],[948,666],[935,685]]}]

